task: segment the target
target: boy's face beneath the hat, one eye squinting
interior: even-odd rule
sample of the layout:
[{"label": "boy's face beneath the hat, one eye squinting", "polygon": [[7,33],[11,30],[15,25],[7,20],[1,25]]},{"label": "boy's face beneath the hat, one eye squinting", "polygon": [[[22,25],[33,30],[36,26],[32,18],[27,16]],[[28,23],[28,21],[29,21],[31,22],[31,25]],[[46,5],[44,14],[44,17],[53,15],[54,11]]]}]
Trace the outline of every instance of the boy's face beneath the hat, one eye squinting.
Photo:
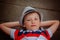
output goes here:
[{"label": "boy's face beneath the hat, one eye squinting", "polygon": [[30,13],[24,18],[24,27],[28,30],[38,30],[40,27],[40,18],[37,13]]}]

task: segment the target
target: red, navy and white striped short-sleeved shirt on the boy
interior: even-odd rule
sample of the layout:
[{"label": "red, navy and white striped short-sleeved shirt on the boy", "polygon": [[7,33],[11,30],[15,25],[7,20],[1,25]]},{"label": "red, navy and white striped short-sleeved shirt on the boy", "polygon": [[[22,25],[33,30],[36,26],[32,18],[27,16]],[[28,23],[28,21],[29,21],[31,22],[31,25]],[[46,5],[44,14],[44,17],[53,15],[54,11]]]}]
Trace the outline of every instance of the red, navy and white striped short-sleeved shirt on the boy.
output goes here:
[{"label": "red, navy and white striped short-sleeved shirt on the boy", "polygon": [[11,29],[11,37],[14,40],[50,40],[52,32],[50,29],[46,30],[16,30]]}]

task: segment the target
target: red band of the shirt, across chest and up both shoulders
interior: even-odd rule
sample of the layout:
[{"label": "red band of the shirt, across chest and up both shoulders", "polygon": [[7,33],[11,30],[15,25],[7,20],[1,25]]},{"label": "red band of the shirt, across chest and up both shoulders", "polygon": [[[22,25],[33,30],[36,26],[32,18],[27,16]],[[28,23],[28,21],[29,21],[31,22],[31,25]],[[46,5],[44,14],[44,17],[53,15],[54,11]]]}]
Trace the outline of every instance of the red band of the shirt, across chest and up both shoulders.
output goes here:
[{"label": "red band of the shirt, across chest and up both shoulders", "polygon": [[14,36],[15,36],[14,40],[21,40],[22,38],[24,38],[24,36],[27,36],[27,37],[39,37],[40,35],[42,35],[42,36],[44,36],[45,38],[47,38],[47,40],[50,40],[50,35],[49,35],[49,33],[48,33],[47,30],[46,30],[45,32],[46,32],[46,34],[47,34],[48,36],[46,36],[46,35],[44,34],[44,32],[42,32],[41,34],[28,33],[28,34],[26,34],[26,35],[22,34],[21,36],[18,36],[18,32],[19,32],[19,30],[16,30],[16,31],[15,31],[15,33],[14,33]]}]

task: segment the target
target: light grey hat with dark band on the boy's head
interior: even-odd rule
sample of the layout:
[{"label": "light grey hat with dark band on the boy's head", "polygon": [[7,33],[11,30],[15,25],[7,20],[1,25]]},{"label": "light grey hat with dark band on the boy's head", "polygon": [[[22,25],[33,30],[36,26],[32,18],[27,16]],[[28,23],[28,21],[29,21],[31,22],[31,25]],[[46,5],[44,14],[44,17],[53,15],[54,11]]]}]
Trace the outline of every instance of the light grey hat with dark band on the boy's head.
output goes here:
[{"label": "light grey hat with dark band on the boy's head", "polygon": [[[24,16],[27,14],[27,13],[29,13],[29,12],[31,12],[31,11],[36,11],[36,12],[38,12],[35,8],[33,8],[33,7],[30,7],[30,6],[27,6],[27,7],[25,7],[25,9],[23,10],[23,12],[22,12],[22,15],[20,16],[20,20],[19,20],[19,23],[20,23],[20,25],[21,26],[23,26],[23,18],[24,18]],[[39,13],[39,12],[38,12]],[[40,13],[39,13],[40,14]],[[41,14],[40,14],[40,16],[41,16]]]}]

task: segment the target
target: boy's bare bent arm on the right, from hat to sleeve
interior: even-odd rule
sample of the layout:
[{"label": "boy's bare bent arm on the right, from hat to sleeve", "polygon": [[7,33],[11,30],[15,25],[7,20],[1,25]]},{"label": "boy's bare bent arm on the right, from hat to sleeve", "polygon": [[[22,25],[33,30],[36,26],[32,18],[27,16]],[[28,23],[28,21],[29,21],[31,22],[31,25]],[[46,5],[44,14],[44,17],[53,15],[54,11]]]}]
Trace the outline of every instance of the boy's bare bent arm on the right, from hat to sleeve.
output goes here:
[{"label": "boy's bare bent arm on the right, from hat to sleeve", "polygon": [[54,33],[59,26],[59,21],[58,20],[44,21],[41,22],[41,26],[50,26],[48,29],[50,29],[52,33]]}]

